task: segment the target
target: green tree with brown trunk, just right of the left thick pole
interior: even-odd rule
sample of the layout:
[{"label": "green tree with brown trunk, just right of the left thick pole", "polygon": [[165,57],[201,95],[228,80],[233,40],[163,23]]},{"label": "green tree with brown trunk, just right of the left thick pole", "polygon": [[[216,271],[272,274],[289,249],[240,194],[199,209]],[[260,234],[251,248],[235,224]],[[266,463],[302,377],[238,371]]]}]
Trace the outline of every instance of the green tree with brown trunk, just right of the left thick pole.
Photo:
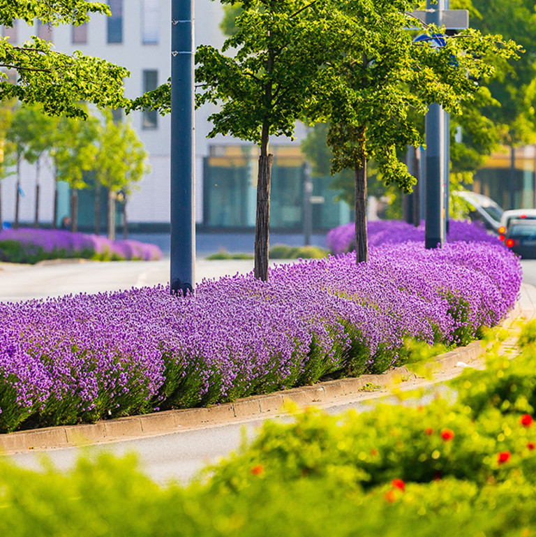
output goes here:
[{"label": "green tree with brown trunk, just right of the left thick pole", "polygon": [[[237,6],[234,0],[225,4]],[[338,11],[326,1],[246,0],[236,33],[222,52],[198,47],[198,105],[219,103],[209,137],[230,134],[260,147],[255,221],[255,277],[268,277],[271,135],[292,137],[323,77],[322,66],[341,52],[328,36],[340,35]],[[233,50],[233,56],[225,55]]]}]

